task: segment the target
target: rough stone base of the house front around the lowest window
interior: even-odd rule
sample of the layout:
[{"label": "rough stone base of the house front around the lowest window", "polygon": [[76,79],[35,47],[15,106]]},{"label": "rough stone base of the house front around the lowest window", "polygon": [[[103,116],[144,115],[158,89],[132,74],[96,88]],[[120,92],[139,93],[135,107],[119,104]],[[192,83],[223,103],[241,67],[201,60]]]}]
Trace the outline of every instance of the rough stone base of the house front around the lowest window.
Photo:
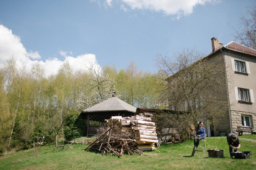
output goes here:
[{"label": "rough stone base of the house front around the lowest window", "polygon": [[[256,113],[248,113],[248,112],[240,112],[231,110],[231,123],[232,123],[232,131],[233,133],[238,134],[237,126],[242,126],[241,115],[248,115],[251,117],[251,126],[254,127],[254,131],[256,131]],[[243,134],[251,134],[250,132],[244,132]]]}]

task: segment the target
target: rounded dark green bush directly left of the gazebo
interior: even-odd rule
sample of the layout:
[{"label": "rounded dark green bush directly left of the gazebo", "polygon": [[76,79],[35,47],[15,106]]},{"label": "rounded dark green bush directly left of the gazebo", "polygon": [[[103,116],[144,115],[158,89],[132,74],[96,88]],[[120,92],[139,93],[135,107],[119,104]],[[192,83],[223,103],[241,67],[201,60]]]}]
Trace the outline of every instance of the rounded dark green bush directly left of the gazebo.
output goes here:
[{"label": "rounded dark green bush directly left of the gazebo", "polygon": [[79,114],[80,113],[76,110],[72,110],[67,114],[63,127],[63,133],[66,140],[72,140],[86,135],[86,124]]}]

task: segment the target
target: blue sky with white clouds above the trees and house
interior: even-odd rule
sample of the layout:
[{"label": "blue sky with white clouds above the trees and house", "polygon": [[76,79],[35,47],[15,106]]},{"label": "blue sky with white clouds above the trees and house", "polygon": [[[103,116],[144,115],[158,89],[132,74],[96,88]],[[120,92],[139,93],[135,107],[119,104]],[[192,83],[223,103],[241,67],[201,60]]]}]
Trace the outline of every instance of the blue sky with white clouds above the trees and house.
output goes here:
[{"label": "blue sky with white clouds above the trees and house", "polygon": [[[47,74],[65,60],[154,71],[157,54],[184,47],[210,53],[212,37],[233,41],[240,13],[254,1],[219,0],[0,0],[0,64],[14,55],[20,64],[39,61]],[[249,17],[249,16],[248,16]],[[29,68],[29,66],[28,66]]]}]

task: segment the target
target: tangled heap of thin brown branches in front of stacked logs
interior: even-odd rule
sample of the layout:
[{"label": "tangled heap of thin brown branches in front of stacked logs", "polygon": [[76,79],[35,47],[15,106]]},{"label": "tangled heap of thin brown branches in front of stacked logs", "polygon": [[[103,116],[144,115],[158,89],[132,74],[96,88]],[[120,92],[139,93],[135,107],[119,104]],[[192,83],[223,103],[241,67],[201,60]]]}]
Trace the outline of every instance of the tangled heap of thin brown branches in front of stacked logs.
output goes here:
[{"label": "tangled heap of thin brown branches in front of stacked logs", "polygon": [[144,152],[136,148],[145,142],[136,142],[131,139],[131,130],[122,130],[119,126],[112,124],[108,127],[101,127],[97,130],[97,139],[88,146],[86,151],[99,151],[103,155],[118,155],[123,157],[124,153],[129,155],[136,153],[146,155]]}]

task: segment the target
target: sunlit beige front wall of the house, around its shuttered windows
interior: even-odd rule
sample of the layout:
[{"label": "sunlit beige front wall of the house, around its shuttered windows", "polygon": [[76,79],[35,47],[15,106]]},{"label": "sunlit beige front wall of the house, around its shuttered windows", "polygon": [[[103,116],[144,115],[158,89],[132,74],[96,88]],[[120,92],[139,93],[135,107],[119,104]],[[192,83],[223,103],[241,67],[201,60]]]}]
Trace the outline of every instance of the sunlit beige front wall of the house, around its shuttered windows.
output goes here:
[{"label": "sunlit beige front wall of the house, around its shuttered windows", "polygon": [[[256,103],[243,103],[235,98],[234,87],[252,89],[256,97],[256,57],[224,51],[228,77],[228,91],[230,101],[232,132],[238,133],[237,126],[242,126],[241,114],[251,117],[251,126],[256,131]],[[232,70],[231,58],[238,61],[249,62],[250,74],[236,73]],[[244,133],[248,134],[248,133]]]}]

